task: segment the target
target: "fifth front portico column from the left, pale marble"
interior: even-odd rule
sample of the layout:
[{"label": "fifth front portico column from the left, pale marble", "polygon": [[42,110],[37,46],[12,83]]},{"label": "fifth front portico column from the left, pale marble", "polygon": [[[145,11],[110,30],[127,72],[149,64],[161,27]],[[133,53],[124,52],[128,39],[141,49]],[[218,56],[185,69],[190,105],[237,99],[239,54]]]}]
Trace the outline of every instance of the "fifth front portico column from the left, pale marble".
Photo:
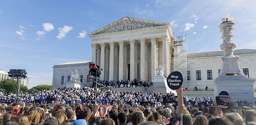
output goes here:
[{"label": "fifth front portico column from the left, pale marble", "polygon": [[135,76],[135,40],[130,40],[130,81],[134,80]]}]

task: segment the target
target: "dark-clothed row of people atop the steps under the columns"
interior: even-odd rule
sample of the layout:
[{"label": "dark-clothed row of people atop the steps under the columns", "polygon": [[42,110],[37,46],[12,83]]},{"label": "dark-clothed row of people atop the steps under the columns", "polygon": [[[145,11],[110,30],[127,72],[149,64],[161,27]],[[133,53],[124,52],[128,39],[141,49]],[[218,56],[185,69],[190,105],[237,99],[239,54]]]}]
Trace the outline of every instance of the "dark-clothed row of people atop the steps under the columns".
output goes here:
[{"label": "dark-clothed row of people atop the steps under the columns", "polygon": [[116,87],[149,87],[153,85],[153,82],[150,81],[138,81],[138,80],[112,80],[112,81],[100,81],[100,83],[105,86],[105,87],[111,87],[111,88],[116,88]]}]

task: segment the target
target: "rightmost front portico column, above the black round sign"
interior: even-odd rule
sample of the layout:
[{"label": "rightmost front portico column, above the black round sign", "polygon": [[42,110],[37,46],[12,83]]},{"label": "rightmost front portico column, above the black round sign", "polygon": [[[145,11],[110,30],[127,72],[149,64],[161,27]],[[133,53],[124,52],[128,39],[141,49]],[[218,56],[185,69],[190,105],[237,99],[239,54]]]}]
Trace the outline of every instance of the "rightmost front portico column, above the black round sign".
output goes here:
[{"label": "rightmost front portico column, above the black round sign", "polygon": [[164,36],[162,37],[162,40],[163,40],[163,67],[164,67],[164,74],[166,77],[169,75],[168,74],[168,51],[167,51],[167,47],[168,47],[168,44],[167,44],[167,37]]}]

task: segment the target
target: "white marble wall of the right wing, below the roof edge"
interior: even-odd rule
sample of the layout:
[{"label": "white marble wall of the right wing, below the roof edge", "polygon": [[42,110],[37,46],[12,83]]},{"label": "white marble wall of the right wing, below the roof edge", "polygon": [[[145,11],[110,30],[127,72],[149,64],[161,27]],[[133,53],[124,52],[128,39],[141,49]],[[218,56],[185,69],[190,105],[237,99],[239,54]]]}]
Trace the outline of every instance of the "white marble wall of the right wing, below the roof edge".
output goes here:
[{"label": "white marble wall of the right wing, below the roof edge", "polygon": [[[239,54],[240,61],[239,66],[243,71],[244,68],[248,68],[249,77],[256,78],[256,53],[254,54]],[[187,57],[187,71],[190,71],[190,78],[188,80],[189,89],[193,89],[197,86],[199,89],[204,89],[207,85],[208,88],[213,88],[214,80],[219,76],[218,70],[221,69],[221,57],[222,56],[204,56],[204,57]],[[201,80],[196,80],[196,71],[201,71]],[[207,80],[207,70],[212,70],[212,80]]]}]

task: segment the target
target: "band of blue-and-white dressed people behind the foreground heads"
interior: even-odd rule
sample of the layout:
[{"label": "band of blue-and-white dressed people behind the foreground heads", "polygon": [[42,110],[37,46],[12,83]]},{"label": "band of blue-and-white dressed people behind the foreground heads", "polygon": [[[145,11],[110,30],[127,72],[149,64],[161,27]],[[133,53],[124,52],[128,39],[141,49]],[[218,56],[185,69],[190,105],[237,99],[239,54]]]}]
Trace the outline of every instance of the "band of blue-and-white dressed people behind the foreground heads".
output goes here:
[{"label": "band of blue-and-white dressed people behind the foreground heads", "polygon": [[[121,92],[114,90],[101,91],[97,90],[96,101],[101,104],[113,105],[124,104],[134,106],[169,106],[177,100],[174,93],[155,93],[155,92]],[[185,105],[208,107],[213,103],[208,97],[183,97]],[[15,102],[15,95],[0,92],[0,102]],[[23,93],[19,95],[19,103],[39,103],[39,104],[54,104],[61,102],[62,105],[71,104],[86,104],[95,102],[95,88],[84,87],[78,88],[62,88],[56,90],[39,90],[33,93]]]}]

